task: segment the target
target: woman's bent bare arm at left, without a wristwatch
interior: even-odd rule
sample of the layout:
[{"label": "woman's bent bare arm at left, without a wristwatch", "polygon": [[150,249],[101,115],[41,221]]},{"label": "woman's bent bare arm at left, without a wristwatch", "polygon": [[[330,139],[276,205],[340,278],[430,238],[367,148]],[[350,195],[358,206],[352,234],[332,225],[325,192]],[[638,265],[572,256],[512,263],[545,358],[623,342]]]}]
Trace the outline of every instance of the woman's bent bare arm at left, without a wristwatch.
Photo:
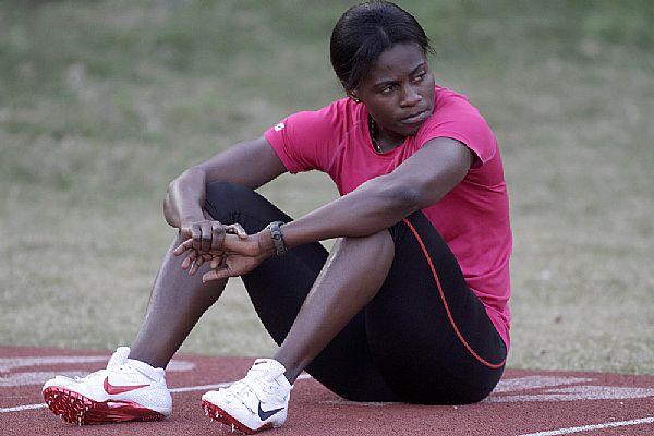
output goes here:
[{"label": "woman's bent bare arm at left, without a wristwatch", "polygon": [[[164,201],[166,221],[179,228],[186,238],[202,239],[202,233],[211,232],[203,211],[208,183],[222,180],[256,189],[284,171],[283,164],[265,137],[239,143],[189,168],[170,183]],[[193,223],[201,225],[192,229]]]}]

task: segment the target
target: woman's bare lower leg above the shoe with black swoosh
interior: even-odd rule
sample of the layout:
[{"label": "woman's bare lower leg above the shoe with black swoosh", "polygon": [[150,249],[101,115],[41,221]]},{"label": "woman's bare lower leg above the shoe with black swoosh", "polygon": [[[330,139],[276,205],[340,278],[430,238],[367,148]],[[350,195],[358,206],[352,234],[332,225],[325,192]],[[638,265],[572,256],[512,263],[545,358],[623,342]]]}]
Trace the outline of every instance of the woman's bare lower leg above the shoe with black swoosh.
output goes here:
[{"label": "woman's bare lower leg above the shoe with black swoosh", "polygon": [[392,264],[395,244],[386,230],[340,239],[275,355],[293,383],[334,337],[378,292]]}]

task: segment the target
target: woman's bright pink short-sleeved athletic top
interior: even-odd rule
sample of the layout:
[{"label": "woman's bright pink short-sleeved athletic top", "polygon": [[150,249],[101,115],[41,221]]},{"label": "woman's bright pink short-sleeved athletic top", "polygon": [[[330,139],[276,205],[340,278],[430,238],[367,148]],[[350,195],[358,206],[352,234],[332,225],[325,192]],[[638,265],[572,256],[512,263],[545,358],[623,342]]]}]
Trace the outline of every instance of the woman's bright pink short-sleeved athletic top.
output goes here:
[{"label": "woman's bright pink short-sleeved athletic top", "polygon": [[465,96],[436,86],[434,113],[415,136],[387,153],[373,148],[364,105],[343,98],[317,111],[294,113],[264,136],[291,173],[328,173],[341,195],[392,172],[426,142],[450,137],[468,146],[475,161],[438,203],[423,209],[457,257],[470,289],[509,347],[509,199],[497,141]]}]

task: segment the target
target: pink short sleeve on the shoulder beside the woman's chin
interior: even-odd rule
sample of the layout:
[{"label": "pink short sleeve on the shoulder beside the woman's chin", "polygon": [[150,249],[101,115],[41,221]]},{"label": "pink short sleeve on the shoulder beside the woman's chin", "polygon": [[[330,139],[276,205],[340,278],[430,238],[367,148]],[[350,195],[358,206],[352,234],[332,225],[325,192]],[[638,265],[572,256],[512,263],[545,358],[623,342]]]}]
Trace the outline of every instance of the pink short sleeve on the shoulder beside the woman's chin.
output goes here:
[{"label": "pink short sleeve on the shoulder beside the woman's chin", "polygon": [[419,133],[420,145],[435,137],[450,137],[475,154],[473,168],[480,168],[497,153],[497,141],[488,123],[468,100],[459,99],[439,109]]}]

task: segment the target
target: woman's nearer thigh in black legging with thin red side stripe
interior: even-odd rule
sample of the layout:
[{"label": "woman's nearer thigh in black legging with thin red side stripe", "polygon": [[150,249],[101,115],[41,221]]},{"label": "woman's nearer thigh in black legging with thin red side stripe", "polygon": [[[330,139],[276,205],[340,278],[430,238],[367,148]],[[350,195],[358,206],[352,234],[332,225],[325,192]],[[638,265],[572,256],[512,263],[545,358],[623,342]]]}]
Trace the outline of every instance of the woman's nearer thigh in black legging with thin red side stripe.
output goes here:
[{"label": "woman's nearer thigh in black legging with thin red side stripe", "polygon": [[479,401],[499,380],[506,347],[427,218],[407,221],[389,229],[393,263],[365,308],[373,358],[404,401]]}]

